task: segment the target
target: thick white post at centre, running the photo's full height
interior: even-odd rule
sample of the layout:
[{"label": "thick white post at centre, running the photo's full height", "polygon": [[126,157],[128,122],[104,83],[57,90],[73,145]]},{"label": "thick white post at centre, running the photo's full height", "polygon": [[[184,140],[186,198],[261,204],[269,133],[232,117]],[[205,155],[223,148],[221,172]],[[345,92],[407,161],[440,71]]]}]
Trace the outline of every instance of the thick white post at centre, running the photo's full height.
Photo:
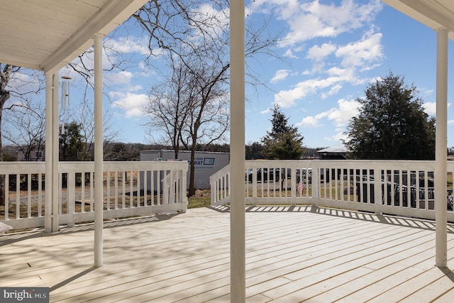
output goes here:
[{"label": "thick white post at centre, running the photo's full height", "polygon": [[245,302],[245,21],[244,0],[230,3],[231,302]]}]

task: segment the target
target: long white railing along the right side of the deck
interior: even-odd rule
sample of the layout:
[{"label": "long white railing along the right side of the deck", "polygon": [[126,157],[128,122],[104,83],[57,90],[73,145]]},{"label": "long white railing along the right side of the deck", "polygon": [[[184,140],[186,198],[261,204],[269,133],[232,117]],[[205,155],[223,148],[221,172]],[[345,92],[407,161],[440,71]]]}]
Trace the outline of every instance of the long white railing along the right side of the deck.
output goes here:
[{"label": "long white railing along the right side of the deck", "polygon": [[[246,204],[309,204],[435,219],[434,161],[247,160]],[[447,163],[448,192],[454,162]],[[211,177],[211,205],[227,204],[230,170]],[[213,194],[215,193],[215,194]],[[454,221],[447,202],[448,220]]]}]

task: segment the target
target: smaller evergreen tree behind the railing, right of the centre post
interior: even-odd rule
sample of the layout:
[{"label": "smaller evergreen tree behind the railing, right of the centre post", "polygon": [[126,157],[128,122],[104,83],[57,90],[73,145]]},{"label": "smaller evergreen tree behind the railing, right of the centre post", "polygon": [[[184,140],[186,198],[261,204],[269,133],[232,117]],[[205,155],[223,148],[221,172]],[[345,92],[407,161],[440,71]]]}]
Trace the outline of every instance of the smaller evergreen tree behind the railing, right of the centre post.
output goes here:
[{"label": "smaller evergreen tree behind the railing, right of the centre post", "polygon": [[288,125],[288,118],[275,105],[272,114],[272,129],[262,138],[262,155],[267,159],[299,159],[304,153],[303,136],[298,129]]}]

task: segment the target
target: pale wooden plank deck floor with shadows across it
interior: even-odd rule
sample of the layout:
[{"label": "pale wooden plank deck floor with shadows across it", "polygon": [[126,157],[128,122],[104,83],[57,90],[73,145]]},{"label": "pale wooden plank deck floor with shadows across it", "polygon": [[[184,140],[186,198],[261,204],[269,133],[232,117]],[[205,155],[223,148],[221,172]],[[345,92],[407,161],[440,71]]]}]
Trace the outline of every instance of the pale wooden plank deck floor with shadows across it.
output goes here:
[{"label": "pale wooden plank deck floor with shadows across it", "polygon": [[[50,287],[51,302],[229,302],[226,208],[0,236],[0,287]],[[435,223],[310,207],[246,213],[247,302],[453,302],[435,267]]]}]

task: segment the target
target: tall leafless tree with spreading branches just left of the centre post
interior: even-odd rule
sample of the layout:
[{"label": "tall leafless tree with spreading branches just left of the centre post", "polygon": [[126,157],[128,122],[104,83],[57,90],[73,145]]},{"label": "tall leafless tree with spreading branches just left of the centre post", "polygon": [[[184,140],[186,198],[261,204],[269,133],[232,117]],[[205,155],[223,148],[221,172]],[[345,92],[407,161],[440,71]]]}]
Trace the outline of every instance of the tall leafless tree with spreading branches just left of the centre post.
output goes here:
[{"label": "tall leafless tree with spreading branches just left of the centre post", "polygon": [[[170,86],[175,87],[177,81],[174,77],[181,75],[172,70],[178,67],[184,68],[183,81],[187,82],[180,87],[192,88],[192,100],[184,101],[189,115],[182,115],[180,110],[179,114],[172,112],[173,121],[184,121],[180,139],[185,147],[192,150],[189,196],[195,193],[193,160],[196,145],[199,141],[211,143],[223,138],[228,131],[228,8],[228,0],[150,0],[133,14],[143,28],[143,34],[149,37],[148,59],[155,55],[166,55],[172,62],[169,66],[172,76],[165,77],[172,79]],[[274,55],[272,47],[277,42],[277,35],[272,36],[267,31],[267,21],[260,23],[261,26],[257,24],[250,22],[247,26],[245,56]],[[257,83],[258,78],[253,76],[253,72],[248,72],[248,75],[252,83]],[[150,118],[159,119],[160,116],[153,114]],[[165,119],[161,122],[166,123]],[[172,127],[175,126],[177,123],[173,123]],[[166,134],[171,135],[171,142],[175,141],[175,132],[166,131]],[[178,146],[177,143],[172,145]]]}]

